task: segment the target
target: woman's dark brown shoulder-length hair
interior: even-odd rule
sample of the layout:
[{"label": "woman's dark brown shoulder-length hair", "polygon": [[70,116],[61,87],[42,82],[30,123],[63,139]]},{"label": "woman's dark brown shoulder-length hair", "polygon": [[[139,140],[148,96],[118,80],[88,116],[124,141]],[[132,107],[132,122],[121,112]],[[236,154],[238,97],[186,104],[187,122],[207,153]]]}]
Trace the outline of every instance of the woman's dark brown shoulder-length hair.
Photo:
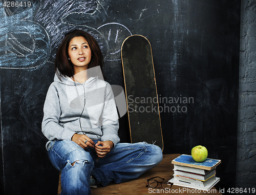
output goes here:
[{"label": "woman's dark brown shoulder-length hair", "polygon": [[84,37],[88,41],[89,47],[92,52],[92,59],[88,64],[88,69],[92,67],[100,66],[102,75],[104,77],[104,74],[103,74],[104,61],[103,61],[103,56],[97,41],[93,38],[92,35],[90,35],[87,32],[84,32],[82,30],[73,30],[65,35],[65,37],[63,38],[58,48],[58,51],[55,57],[54,66],[55,66],[55,73],[57,74],[58,78],[60,79],[61,76],[68,76],[68,77],[73,76],[74,74],[73,63],[71,62],[71,60],[68,59],[69,58],[68,48],[69,48],[69,43],[71,39],[79,36]]}]

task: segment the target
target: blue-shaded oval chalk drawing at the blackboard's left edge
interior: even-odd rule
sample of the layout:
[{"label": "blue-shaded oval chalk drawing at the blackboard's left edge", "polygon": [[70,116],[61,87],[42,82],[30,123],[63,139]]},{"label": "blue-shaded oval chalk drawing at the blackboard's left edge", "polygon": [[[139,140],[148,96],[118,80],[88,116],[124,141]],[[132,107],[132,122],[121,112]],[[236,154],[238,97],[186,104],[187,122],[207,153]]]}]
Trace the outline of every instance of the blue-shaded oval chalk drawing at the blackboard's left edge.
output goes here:
[{"label": "blue-shaded oval chalk drawing at the blackboard's left edge", "polygon": [[0,9],[0,68],[35,70],[50,56],[50,38],[40,24],[29,19],[31,9],[7,16]]}]

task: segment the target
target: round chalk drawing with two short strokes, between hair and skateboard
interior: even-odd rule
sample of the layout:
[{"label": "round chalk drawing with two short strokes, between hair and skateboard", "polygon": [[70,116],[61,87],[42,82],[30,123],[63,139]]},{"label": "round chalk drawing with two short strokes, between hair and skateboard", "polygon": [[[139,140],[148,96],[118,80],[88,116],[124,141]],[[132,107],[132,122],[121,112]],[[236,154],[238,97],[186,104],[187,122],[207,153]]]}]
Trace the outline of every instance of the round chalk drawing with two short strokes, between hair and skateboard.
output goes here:
[{"label": "round chalk drawing with two short strokes, between hair and skateboard", "polygon": [[123,40],[132,35],[131,31],[126,28],[124,25],[119,23],[108,23],[100,26],[99,30],[104,36],[105,40],[111,46],[109,48],[110,53],[106,57],[107,61],[117,61],[121,60],[120,51]]}]

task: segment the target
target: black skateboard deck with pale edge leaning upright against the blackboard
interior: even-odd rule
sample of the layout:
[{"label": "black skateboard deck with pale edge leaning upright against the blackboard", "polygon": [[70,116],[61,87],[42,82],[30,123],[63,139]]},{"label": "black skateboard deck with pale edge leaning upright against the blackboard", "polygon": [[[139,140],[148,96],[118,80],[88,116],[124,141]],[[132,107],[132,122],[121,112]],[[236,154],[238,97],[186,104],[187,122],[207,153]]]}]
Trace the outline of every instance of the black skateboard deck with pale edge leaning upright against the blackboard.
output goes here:
[{"label": "black skateboard deck with pale edge leaning upright against the blackboard", "polygon": [[122,44],[121,58],[131,142],[145,141],[163,150],[150,42],[141,35],[127,37]]}]

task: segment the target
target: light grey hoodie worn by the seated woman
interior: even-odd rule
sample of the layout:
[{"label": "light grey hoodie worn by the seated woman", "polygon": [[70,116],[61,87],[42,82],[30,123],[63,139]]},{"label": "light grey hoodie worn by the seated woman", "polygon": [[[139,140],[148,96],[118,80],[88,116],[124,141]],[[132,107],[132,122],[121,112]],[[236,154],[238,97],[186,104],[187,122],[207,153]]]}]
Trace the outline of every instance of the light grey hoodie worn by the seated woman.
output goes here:
[{"label": "light grey hoodie worn by the seated woman", "polygon": [[71,140],[86,134],[92,140],[120,141],[118,114],[111,85],[98,77],[84,83],[55,74],[47,92],[42,120],[42,133],[49,140]]}]

